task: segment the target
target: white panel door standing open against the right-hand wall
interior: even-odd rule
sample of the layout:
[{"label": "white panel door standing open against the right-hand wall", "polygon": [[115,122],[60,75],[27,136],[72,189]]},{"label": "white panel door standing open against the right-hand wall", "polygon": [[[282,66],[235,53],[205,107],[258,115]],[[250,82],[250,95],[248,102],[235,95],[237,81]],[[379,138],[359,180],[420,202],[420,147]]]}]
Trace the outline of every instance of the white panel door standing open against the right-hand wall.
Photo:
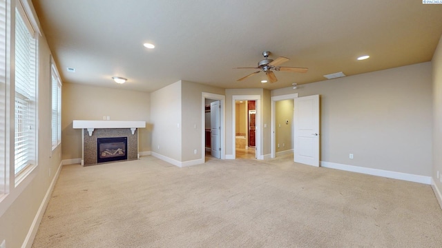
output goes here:
[{"label": "white panel door standing open against the right-hand wall", "polygon": [[319,166],[319,95],[295,99],[294,161]]}]

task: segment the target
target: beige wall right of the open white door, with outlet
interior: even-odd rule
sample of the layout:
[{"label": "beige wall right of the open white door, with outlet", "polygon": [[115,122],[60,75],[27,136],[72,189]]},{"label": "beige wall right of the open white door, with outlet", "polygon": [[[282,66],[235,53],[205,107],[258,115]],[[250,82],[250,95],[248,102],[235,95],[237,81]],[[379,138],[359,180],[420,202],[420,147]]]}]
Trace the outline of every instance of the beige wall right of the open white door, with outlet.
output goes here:
[{"label": "beige wall right of the open white door, with outlet", "polygon": [[419,63],[272,94],[320,94],[320,161],[430,176],[431,71]]}]

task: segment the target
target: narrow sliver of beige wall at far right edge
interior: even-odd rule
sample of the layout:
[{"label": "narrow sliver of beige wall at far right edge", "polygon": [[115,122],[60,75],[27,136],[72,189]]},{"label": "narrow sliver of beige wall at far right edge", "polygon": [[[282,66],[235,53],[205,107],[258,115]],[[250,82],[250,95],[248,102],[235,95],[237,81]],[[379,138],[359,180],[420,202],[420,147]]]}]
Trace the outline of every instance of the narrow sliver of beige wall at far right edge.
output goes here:
[{"label": "narrow sliver of beige wall at far right edge", "polygon": [[[442,207],[442,37],[432,59],[433,70],[433,166],[432,178]],[[439,172],[439,178],[437,173]]]}]

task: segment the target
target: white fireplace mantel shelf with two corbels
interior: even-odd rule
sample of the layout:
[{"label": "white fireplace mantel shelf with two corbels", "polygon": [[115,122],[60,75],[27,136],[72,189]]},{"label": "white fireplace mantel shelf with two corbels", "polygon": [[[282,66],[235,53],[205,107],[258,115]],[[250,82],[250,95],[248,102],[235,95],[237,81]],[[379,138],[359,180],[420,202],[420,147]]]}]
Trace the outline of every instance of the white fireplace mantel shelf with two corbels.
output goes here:
[{"label": "white fireplace mantel shelf with two corbels", "polygon": [[130,128],[132,134],[135,134],[137,128],[144,127],[146,127],[146,121],[73,121],[73,128],[86,129],[89,136],[92,136],[95,128]]}]

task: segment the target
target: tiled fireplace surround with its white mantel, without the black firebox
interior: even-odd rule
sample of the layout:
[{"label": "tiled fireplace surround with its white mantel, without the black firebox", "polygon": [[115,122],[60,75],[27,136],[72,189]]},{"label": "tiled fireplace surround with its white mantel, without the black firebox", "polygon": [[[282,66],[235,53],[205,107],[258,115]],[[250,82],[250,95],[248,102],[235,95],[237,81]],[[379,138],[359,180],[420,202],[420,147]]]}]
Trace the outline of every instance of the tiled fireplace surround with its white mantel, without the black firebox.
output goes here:
[{"label": "tiled fireplace surround with its white mantel, without the black firebox", "polygon": [[97,138],[127,137],[127,160],[136,160],[138,130],[146,127],[144,121],[74,121],[73,128],[82,129],[83,147],[81,165],[97,164]]}]

